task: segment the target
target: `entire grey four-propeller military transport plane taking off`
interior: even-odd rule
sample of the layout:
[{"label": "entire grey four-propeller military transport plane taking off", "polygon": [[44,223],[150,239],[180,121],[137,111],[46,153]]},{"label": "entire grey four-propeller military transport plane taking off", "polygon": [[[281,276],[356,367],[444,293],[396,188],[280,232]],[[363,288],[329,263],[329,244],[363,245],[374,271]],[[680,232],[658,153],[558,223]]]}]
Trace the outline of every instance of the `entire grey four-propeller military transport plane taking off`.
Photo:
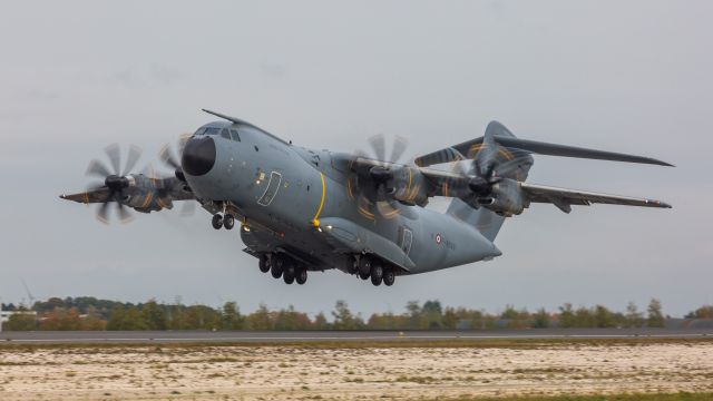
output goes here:
[{"label": "entire grey four-propeller military transport plane taking off", "polygon": [[[374,155],[334,153],[292,145],[241,119],[211,110],[209,123],[160,159],[173,176],[130,170],[140,156],[131,147],[120,169],[118,146],[107,147],[113,169],[92,160],[88,175],[102,183],[61,195],[99,203],[106,222],[109,204],[123,222],[127,208],[149,213],[175,200],[197,202],[213,215],[216,229],[236,221],[260,270],[285,283],[304,284],[307,272],[339,268],[392,285],[395,276],[432,272],[501,255],[494,239],[507,217],[531,203],[550,203],[565,213],[573,205],[617,204],[663,207],[652,199],[605,195],[526,183],[533,154],[672,166],[648,157],[518,139],[500,123],[482,137],[399,163],[404,140],[387,158],[383,136],[371,138]],[[437,168],[436,165],[441,165]],[[449,168],[443,168],[448,166]],[[424,206],[451,198],[446,213]]]}]

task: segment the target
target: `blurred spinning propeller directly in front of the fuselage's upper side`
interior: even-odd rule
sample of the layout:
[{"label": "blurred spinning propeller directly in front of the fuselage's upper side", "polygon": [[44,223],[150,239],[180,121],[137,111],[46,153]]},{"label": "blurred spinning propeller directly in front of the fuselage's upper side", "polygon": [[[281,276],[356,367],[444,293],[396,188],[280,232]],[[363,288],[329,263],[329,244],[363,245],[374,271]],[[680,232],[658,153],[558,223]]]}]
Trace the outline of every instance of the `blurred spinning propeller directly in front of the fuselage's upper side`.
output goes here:
[{"label": "blurred spinning propeller directly in front of the fuselage's upper side", "polygon": [[352,163],[352,176],[348,183],[349,195],[356,199],[359,213],[368,218],[378,214],[392,218],[400,209],[393,198],[397,192],[394,168],[402,165],[399,160],[406,153],[408,141],[397,136],[391,146],[391,154],[387,158],[387,139],[383,134],[369,138],[371,157],[363,151],[356,151]]}]

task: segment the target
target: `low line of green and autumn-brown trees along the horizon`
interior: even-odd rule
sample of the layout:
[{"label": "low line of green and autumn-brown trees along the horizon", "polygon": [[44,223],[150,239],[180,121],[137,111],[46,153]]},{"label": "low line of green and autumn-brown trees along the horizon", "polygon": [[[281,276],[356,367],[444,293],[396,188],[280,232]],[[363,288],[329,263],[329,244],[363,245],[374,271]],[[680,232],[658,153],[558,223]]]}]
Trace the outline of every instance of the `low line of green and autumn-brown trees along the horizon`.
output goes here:
[{"label": "low line of green and autumn-brown trees along the horizon", "polygon": [[[329,317],[320,312],[313,317],[286,309],[270,310],[262,304],[247,314],[235,302],[221,307],[184,305],[179,301],[159,303],[124,303],[95,297],[51,297],[31,307],[2,305],[16,313],[3,330],[487,330],[546,327],[662,327],[665,319],[662,304],[652,299],[645,311],[629,302],[624,312],[603,305],[574,307],[565,303],[556,311],[539,309],[529,312],[506,305],[501,313],[467,307],[443,307],[437,300],[408,302],[402,313],[373,313],[364,319],[353,313],[346,302],[336,301]],[[713,319],[713,305],[704,305],[686,315],[687,319]]]}]

